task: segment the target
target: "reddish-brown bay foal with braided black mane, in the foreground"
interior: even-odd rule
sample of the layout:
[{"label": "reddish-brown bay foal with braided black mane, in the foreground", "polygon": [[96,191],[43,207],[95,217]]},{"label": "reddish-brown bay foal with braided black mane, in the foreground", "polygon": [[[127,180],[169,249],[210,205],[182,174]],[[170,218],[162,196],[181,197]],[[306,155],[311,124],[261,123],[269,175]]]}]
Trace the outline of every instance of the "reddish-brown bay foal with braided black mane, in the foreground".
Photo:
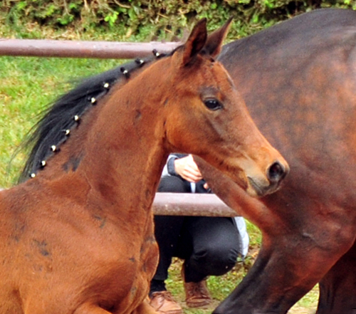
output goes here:
[{"label": "reddish-brown bay foal with braided black mane, in the foreground", "polygon": [[39,122],[24,174],[0,194],[0,313],[154,313],[151,205],[169,152],[275,192],[288,164],[221,63],[229,23],[200,21],[169,56],[86,80]]}]

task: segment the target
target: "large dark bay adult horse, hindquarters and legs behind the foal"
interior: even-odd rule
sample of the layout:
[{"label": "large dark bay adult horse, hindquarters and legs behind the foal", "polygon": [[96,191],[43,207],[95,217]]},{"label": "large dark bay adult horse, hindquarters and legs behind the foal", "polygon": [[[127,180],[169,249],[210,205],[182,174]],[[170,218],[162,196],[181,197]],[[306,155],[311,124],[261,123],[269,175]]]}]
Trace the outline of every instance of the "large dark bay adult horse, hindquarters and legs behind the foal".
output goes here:
[{"label": "large dark bay adult horse, hindquarters and legs behind the foal", "polygon": [[251,271],[214,313],[284,314],[318,282],[318,314],[356,313],[356,12],[302,14],[229,43],[219,61],[290,175],[258,202],[204,173],[263,234]]}]

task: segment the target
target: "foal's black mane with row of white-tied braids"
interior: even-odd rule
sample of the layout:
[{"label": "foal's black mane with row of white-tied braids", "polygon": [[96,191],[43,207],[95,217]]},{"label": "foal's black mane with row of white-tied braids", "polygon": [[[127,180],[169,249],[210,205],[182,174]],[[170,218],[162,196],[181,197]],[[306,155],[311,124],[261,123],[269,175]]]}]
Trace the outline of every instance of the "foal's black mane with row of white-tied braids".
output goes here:
[{"label": "foal's black mane with row of white-tied braids", "polygon": [[[174,51],[176,51],[174,49]],[[172,51],[172,53],[174,53]],[[168,56],[172,55],[169,53]],[[21,148],[29,151],[28,159],[19,177],[24,182],[46,165],[46,159],[58,151],[59,146],[65,142],[70,131],[78,125],[80,117],[90,110],[107,95],[110,88],[123,79],[130,78],[130,73],[137,71],[155,58],[167,56],[153,51],[154,57],[136,59],[130,63],[108,70],[99,75],[86,78],[78,86],[65,95],[59,97],[53,104],[43,110],[41,119],[32,127]]]}]

